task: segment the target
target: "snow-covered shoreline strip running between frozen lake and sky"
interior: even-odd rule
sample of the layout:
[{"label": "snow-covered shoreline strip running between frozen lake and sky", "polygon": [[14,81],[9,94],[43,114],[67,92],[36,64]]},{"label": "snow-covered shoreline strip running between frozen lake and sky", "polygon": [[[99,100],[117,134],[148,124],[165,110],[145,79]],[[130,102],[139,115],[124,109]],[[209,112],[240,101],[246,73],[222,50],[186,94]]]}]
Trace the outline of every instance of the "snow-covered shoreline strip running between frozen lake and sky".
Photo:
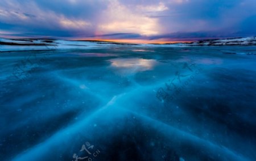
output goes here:
[{"label": "snow-covered shoreline strip running between frozen lake and sky", "polygon": [[161,47],[183,47],[183,46],[254,46],[256,37],[200,40],[192,43],[175,44],[130,44],[109,41],[73,41],[55,39],[6,39],[0,38],[0,52],[10,52],[19,50],[54,50],[54,49],[90,49],[102,48],[106,46],[161,46]]}]

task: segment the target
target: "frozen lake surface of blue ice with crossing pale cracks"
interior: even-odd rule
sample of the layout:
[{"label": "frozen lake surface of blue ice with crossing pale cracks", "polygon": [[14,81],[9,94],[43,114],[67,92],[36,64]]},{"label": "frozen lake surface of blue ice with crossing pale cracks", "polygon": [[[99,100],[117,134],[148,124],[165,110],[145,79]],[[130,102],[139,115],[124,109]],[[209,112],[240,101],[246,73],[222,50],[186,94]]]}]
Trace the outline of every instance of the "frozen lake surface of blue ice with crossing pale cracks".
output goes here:
[{"label": "frozen lake surface of blue ice with crossing pale cracks", "polygon": [[1,160],[256,160],[255,46],[0,54]]}]

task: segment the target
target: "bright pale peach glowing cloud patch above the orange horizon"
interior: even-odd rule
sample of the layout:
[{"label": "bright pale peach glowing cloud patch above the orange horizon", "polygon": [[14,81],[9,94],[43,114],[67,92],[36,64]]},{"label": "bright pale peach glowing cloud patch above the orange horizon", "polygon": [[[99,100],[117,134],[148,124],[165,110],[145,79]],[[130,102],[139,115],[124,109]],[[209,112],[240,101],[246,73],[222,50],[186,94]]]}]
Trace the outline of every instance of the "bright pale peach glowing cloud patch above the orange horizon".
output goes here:
[{"label": "bright pale peach glowing cloud patch above the orange horizon", "polygon": [[102,19],[98,24],[100,33],[137,32],[154,35],[158,33],[158,29],[157,19],[148,18],[116,0],[111,1],[108,9],[102,11]]}]

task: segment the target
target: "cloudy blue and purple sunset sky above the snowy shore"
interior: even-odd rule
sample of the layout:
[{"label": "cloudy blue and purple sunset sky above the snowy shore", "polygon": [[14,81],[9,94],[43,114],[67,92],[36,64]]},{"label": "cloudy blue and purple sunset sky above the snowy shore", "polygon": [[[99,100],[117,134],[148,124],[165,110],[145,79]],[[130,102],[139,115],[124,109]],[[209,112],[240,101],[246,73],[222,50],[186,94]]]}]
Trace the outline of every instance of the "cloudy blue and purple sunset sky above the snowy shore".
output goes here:
[{"label": "cloudy blue and purple sunset sky above the snowy shore", "polygon": [[256,36],[255,0],[1,0],[0,37],[166,43]]}]

